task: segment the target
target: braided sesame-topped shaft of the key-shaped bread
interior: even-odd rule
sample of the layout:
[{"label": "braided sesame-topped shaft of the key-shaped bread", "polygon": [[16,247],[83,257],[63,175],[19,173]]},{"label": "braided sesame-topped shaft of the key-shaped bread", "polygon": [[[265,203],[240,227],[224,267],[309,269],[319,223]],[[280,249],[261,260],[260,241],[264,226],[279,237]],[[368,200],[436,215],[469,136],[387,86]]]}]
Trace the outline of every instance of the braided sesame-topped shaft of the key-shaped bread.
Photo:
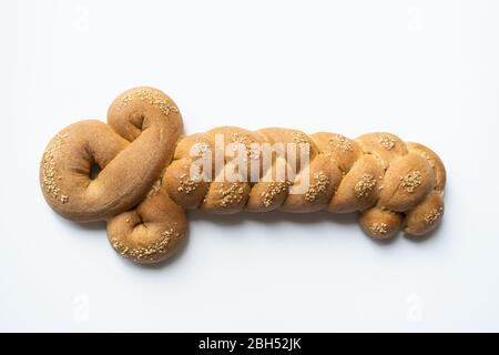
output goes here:
[{"label": "braided sesame-topped shaft of the key-shaped bread", "polygon": [[[421,209],[425,199],[432,191],[442,191],[445,186],[445,169],[438,155],[421,144],[406,144],[390,133],[369,133],[350,140],[326,132],[307,135],[281,128],[249,132],[224,126],[202,134],[211,149],[214,149],[213,142],[217,133],[222,133],[225,141],[231,141],[231,136],[235,134],[246,145],[248,142],[271,145],[306,143],[309,145],[310,160],[308,164],[301,166],[294,178],[286,175],[285,180],[276,179],[276,165],[289,163],[284,154],[274,156],[269,166],[259,166],[261,180],[256,183],[212,182],[207,187],[201,183],[195,193],[177,193],[175,189],[181,182],[179,175],[186,173],[185,166],[192,162],[189,151],[200,140],[200,134],[183,138],[179,143],[181,149],[177,148],[176,160],[166,170],[165,179],[169,185],[174,186],[169,193],[185,209],[201,207],[203,211],[221,214],[277,209],[293,213],[360,211],[364,230],[373,237],[388,239],[400,229],[405,214],[409,215],[413,210]],[[257,152],[256,156],[261,154],[262,152]],[[183,169],[180,162],[185,164]],[[223,170],[231,170],[231,158],[225,158],[224,162]],[[251,156],[246,163],[245,169],[251,171]],[[291,193],[304,174],[308,175],[309,187],[301,193]],[[221,176],[221,172],[216,176]],[[416,214],[411,215],[411,225],[415,221],[420,223]],[[385,229],[386,232],[383,233]],[[418,232],[411,227],[406,229],[407,233],[413,231]]]}]

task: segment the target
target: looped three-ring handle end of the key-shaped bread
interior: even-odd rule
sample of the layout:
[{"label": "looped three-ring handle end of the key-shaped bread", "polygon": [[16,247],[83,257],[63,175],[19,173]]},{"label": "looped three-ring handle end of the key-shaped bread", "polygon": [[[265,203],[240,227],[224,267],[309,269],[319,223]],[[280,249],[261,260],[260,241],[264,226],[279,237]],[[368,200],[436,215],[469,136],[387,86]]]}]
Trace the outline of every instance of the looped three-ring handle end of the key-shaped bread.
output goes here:
[{"label": "looped three-ring handle end of the key-shaped bread", "polygon": [[[128,229],[132,224],[120,226],[123,219],[135,221],[136,213],[140,215],[143,211],[150,217],[146,225],[165,227],[157,221],[174,216],[175,235],[169,245],[140,261],[163,260],[183,237],[186,224],[181,217],[182,207],[166,204],[166,199],[170,201],[166,194],[155,194],[153,200],[147,196],[152,194],[151,190],[155,191],[154,183],[170,163],[181,132],[181,114],[169,97],[152,88],[129,90],[111,104],[108,124],[96,120],[81,121],[52,139],[40,164],[43,195],[49,205],[67,219],[80,222],[109,220],[108,233],[122,254],[124,250],[140,251],[146,241],[151,245],[154,242],[153,230],[147,230],[144,223],[134,224],[132,231]],[[92,180],[90,173],[94,164],[101,171]],[[125,212],[136,205],[135,212]],[[159,207],[163,207],[164,215],[150,212]],[[130,215],[123,217],[123,213]],[[136,245],[126,244],[129,232],[133,232],[130,235]]]}]

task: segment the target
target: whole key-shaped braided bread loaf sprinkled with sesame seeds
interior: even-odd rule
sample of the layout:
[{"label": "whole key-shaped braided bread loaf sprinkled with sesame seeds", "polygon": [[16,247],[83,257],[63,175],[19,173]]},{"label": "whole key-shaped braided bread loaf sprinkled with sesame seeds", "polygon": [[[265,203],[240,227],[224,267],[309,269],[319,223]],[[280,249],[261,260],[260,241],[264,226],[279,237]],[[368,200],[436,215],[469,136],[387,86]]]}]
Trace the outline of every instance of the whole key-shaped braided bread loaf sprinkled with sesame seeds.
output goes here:
[{"label": "whole key-shaped braided bread loaf sprinkled with sesame seeds", "polygon": [[[69,220],[106,221],[111,245],[139,263],[175,253],[186,234],[187,209],[358,211],[365,232],[380,240],[400,229],[425,235],[444,214],[442,162],[428,148],[394,134],[350,140],[233,126],[181,134],[182,116],[172,99],[153,88],[125,91],[111,104],[108,124],[81,121],[51,140],[40,164],[43,195]],[[279,144],[285,149],[264,149]],[[95,178],[93,166],[100,169]]]}]

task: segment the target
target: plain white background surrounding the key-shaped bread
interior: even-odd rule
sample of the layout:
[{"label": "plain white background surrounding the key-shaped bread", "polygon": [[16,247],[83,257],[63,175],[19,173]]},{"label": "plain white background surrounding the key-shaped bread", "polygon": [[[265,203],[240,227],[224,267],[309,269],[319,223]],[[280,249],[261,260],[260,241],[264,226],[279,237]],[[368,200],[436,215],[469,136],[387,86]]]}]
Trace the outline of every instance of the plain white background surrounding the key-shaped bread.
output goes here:
[{"label": "plain white background surrounding the key-shaped bread", "polygon": [[[1,331],[499,331],[497,1],[2,1]],[[429,239],[356,216],[190,215],[144,267],[45,204],[51,136],[153,85],[186,133],[389,131],[449,183]]]}]

